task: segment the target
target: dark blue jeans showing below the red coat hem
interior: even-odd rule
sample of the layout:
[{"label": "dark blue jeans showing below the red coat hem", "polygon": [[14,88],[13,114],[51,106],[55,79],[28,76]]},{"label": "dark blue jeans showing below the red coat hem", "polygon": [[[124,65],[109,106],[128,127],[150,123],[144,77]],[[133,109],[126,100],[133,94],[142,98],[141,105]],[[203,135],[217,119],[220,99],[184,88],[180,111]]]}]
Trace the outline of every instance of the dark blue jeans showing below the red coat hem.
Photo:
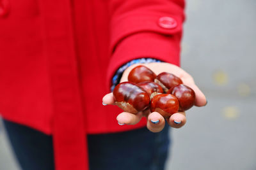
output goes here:
[{"label": "dark blue jeans showing below the red coat hem", "polygon": [[[51,136],[7,120],[4,126],[22,169],[54,169]],[[88,135],[90,170],[163,170],[169,145],[168,125],[159,133],[142,128]]]}]

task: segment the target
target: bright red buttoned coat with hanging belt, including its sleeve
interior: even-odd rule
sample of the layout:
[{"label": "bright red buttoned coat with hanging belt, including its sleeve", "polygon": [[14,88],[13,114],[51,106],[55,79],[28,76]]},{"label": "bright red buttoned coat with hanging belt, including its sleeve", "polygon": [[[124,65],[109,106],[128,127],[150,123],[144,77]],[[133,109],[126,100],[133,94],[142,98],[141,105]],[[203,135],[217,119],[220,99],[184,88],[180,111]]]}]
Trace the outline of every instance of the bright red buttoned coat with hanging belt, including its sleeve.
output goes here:
[{"label": "bright red buttoned coat with hanging belt, including its sleeve", "polygon": [[[0,113],[52,134],[56,169],[87,169],[86,135],[127,131],[102,106],[125,62],[179,65],[183,0],[0,0]],[[85,161],[86,160],[86,161]]]}]

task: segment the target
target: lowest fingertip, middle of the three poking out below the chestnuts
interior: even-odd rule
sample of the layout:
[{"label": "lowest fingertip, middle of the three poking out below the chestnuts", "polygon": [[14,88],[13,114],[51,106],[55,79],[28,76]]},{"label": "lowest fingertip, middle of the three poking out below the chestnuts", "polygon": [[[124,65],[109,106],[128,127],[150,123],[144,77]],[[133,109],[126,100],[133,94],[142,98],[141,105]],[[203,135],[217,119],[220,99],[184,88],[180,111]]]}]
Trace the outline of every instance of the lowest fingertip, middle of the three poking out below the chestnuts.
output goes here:
[{"label": "lowest fingertip, middle of the three poking out below the chestnuts", "polygon": [[157,112],[148,115],[147,128],[151,132],[160,132],[164,129],[164,118]]}]

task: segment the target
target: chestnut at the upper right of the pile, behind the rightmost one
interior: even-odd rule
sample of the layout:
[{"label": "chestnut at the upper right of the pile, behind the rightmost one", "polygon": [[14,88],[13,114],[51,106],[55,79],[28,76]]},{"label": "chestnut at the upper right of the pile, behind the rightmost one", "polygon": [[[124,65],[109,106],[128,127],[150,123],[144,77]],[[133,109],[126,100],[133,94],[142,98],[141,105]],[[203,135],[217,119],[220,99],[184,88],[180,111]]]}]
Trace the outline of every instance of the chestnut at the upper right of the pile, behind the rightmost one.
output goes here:
[{"label": "chestnut at the upper right of the pile, behind the rightmost one", "polygon": [[182,80],[174,74],[163,72],[157,75],[155,82],[161,85],[164,92],[168,92],[169,89],[176,85],[182,84]]}]

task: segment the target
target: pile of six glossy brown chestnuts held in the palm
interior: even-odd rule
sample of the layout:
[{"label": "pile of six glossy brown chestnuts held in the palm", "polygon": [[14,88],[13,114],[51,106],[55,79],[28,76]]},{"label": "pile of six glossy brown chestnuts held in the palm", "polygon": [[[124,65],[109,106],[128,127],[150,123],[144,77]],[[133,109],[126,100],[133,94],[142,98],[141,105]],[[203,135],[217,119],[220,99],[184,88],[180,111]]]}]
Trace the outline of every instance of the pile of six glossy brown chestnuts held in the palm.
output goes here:
[{"label": "pile of six glossy brown chestnuts held in the palm", "polygon": [[113,90],[115,104],[129,113],[150,109],[164,118],[185,111],[195,104],[195,92],[182,84],[179,77],[171,73],[156,75],[145,66],[131,70],[128,81],[119,83]]}]

